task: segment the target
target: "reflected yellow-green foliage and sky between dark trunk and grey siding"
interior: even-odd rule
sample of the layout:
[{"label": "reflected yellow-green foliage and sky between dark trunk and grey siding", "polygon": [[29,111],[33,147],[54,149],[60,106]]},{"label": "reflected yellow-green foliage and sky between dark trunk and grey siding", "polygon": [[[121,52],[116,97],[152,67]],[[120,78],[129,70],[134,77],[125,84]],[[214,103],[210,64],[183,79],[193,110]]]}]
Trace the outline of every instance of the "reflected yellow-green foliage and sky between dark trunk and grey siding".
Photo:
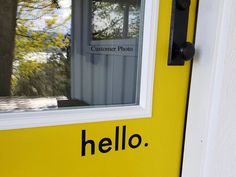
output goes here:
[{"label": "reflected yellow-green foliage and sky between dark trunk and grey siding", "polygon": [[60,18],[61,1],[19,0],[13,95],[70,95],[71,15]]}]

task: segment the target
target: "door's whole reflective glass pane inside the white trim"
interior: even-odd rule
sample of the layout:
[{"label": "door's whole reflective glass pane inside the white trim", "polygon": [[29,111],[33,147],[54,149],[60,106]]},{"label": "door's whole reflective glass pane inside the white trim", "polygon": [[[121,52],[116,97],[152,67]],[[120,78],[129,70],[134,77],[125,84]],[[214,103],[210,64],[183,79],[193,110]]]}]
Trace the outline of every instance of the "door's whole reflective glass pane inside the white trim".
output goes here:
[{"label": "door's whole reflective glass pane inside the white trim", "polygon": [[75,0],[74,12],[72,0],[7,6],[0,112],[139,103],[141,0]]}]

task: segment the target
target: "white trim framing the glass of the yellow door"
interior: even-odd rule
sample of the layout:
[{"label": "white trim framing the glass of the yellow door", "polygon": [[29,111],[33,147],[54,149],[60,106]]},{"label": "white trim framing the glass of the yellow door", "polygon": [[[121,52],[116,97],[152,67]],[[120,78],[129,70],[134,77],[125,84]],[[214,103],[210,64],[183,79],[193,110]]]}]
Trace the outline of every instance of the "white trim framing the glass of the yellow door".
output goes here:
[{"label": "white trim framing the glass of the yellow door", "polygon": [[[140,104],[41,112],[0,113],[0,130],[151,117],[159,0],[145,1]],[[148,78],[148,79],[147,79]]]}]

